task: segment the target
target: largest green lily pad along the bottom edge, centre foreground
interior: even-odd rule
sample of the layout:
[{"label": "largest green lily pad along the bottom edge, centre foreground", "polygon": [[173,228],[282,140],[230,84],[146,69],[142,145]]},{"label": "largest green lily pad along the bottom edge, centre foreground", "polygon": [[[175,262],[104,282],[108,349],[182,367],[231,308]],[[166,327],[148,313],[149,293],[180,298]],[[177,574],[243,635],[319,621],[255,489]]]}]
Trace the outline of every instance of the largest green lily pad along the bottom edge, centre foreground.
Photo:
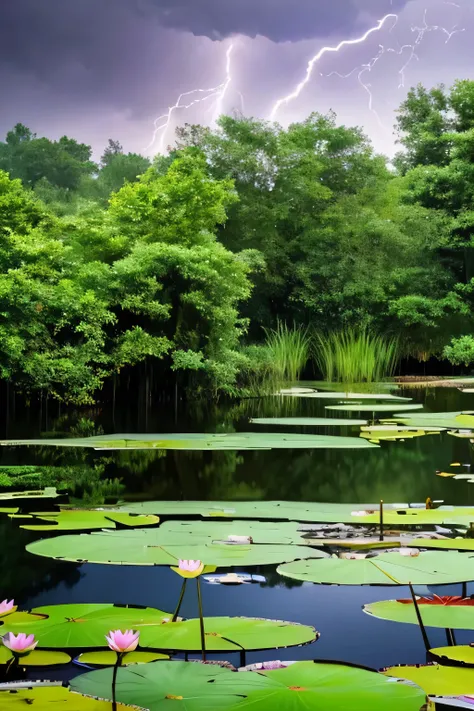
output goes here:
[{"label": "largest green lily pad along the bottom edge, centre foreground", "polygon": [[[112,670],[73,679],[72,688],[110,696]],[[419,711],[425,694],[382,674],[343,664],[297,662],[286,669],[234,672],[215,665],[158,662],[119,669],[117,699],[150,711],[227,708],[252,711]]]}]

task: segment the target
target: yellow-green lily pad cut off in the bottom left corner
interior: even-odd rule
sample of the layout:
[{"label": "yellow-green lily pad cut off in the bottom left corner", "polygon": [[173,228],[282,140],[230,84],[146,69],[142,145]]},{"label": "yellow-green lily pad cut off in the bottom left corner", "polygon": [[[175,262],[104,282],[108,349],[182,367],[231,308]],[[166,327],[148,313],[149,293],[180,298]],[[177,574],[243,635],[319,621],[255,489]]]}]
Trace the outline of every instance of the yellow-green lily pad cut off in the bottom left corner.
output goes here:
[{"label": "yellow-green lily pad cut off in the bottom left corner", "polygon": [[[110,696],[110,693],[108,694]],[[30,689],[0,691],[2,711],[110,711],[110,701],[81,696],[63,686],[38,686]],[[133,706],[138,709],[138,706]],[[130,706],[117,704],[117,711],[131,711]],[[143,710],[145,711],[145,710]]]}]

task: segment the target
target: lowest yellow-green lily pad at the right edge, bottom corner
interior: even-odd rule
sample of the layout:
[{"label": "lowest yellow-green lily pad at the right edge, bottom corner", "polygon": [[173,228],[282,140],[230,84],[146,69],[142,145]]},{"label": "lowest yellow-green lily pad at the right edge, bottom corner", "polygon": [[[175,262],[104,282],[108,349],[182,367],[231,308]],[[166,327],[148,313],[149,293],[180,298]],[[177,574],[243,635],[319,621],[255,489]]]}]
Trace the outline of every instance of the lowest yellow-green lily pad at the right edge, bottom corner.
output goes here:
[{"label": "lowest yellow-green lily pad at the right edge, bottom corner", "polygon": [[430,696],[474,694],[474,673],[472,669],[444,667],[439,664],[407,665],[389,667],[384,671],[384,674],[413,681]]}]

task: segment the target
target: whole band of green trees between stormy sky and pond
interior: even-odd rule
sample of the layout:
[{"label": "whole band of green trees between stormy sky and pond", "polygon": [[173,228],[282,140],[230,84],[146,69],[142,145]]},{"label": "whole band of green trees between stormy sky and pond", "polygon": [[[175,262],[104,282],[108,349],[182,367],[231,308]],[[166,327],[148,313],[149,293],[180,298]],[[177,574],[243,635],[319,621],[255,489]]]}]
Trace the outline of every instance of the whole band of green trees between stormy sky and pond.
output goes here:
[{"label": "whole band of green trees between stormy sky and pond", "polygon": [[0,377],[94,402],[131,373],[235,394],[265,332],[398,337],[474,361],[474,81],[418,86],[389,166],[359,128],[222,116],[153,161],[109,140],[0,143]]}]

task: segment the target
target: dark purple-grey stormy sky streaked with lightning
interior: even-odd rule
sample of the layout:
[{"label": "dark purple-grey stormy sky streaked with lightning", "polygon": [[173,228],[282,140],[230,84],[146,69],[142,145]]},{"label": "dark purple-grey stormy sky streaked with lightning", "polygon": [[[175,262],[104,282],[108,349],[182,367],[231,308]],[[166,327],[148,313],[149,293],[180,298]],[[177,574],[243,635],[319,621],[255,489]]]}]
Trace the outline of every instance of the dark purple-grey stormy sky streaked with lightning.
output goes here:
[{"label": "dark purple-grey stormy sky streaked with lightning", "polygon": [[[390,155],[410,86],[473,77],[473,10],[474,0],[0,0],[0,137],[22,122],[96,156],[108,138],[152,155],[176,123],[212,124],[219,108],[270,118],[324,46],[379,23],[364,42],[323,54],[274,118],[333,109]],[[173,111],[149,148],[155,119],[195,88],[215,92],[183,97],[204,101]]]}]

